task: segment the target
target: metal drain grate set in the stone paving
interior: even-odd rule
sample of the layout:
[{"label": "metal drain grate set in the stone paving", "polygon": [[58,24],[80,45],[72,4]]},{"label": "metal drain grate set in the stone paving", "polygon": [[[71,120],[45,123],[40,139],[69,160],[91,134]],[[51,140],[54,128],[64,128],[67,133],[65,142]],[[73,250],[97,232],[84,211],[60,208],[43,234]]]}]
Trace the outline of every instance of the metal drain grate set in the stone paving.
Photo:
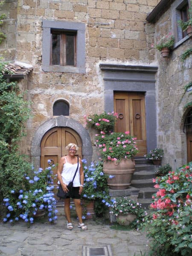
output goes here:
[{"label": "metal drain grate set in the stone paving", "polygon": [[106,246],[83,246],[83,256],[112,256],[110,245]]}]

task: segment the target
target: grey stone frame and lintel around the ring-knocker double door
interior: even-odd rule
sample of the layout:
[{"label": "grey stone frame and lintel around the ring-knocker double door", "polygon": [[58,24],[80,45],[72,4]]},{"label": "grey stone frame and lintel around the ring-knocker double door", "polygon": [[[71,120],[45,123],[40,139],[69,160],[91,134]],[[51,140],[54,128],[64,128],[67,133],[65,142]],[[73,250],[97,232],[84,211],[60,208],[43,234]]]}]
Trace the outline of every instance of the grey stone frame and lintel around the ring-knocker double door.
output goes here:
[{"label": "grey stone frame and lintel around the ring-knocker double door", "polygon": [[104,80],[105,111],[114,109],[113,92],[145,93],[147,151],[157,147],[157,113],[155,76],[158,67],[122,64],[99,64]]}]

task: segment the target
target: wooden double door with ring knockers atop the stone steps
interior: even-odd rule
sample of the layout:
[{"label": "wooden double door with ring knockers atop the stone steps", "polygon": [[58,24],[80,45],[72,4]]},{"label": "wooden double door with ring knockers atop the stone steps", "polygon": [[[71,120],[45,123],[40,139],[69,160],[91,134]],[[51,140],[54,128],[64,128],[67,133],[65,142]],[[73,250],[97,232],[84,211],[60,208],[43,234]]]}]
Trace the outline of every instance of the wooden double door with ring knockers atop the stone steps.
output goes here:
[{"label": "wooden double door with ring knockers atop the stone steps", "polygon": [[114,111],[119,114],[115,131],[130,131],[131,136],[137,137],[136,157],[143,157],[147,153],[144,93],[115,92]]}]

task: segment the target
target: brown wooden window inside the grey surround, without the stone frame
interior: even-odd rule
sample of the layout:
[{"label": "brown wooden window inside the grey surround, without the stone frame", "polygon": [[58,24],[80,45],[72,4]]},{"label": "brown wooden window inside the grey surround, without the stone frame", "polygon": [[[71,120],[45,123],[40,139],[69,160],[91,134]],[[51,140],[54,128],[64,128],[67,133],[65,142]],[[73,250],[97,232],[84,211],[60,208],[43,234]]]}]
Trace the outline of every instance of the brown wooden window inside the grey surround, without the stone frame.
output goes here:
[{"label": "brown wooden window inside the grey surround, without the stone frame", "polygon": [[50,65],[76,66],[76,32],[51,29]]}]

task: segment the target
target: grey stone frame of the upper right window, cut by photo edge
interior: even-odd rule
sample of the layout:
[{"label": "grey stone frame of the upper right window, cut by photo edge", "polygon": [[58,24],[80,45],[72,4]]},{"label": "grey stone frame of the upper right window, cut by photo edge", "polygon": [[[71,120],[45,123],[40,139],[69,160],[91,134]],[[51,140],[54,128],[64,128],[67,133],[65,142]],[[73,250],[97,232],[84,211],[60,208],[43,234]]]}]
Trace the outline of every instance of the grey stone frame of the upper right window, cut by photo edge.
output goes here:
[{"label": "grey stone frame of the upper right window, cut by photo edge", "polygon": [[175,48],[177,48],[180,44],[183,44],[183,42],[189,39],[188,35],[182,38],[182,30],[177,24],[177,21],[180,20],[180,9],[187,2],[190,7],[191,0],[176,0],[174,3],[172,3],[172,6],[171,6],[171,11],[172,11],[171,19],[172,19],[173,35],[175,37],[175,45],[174,45]]}]

